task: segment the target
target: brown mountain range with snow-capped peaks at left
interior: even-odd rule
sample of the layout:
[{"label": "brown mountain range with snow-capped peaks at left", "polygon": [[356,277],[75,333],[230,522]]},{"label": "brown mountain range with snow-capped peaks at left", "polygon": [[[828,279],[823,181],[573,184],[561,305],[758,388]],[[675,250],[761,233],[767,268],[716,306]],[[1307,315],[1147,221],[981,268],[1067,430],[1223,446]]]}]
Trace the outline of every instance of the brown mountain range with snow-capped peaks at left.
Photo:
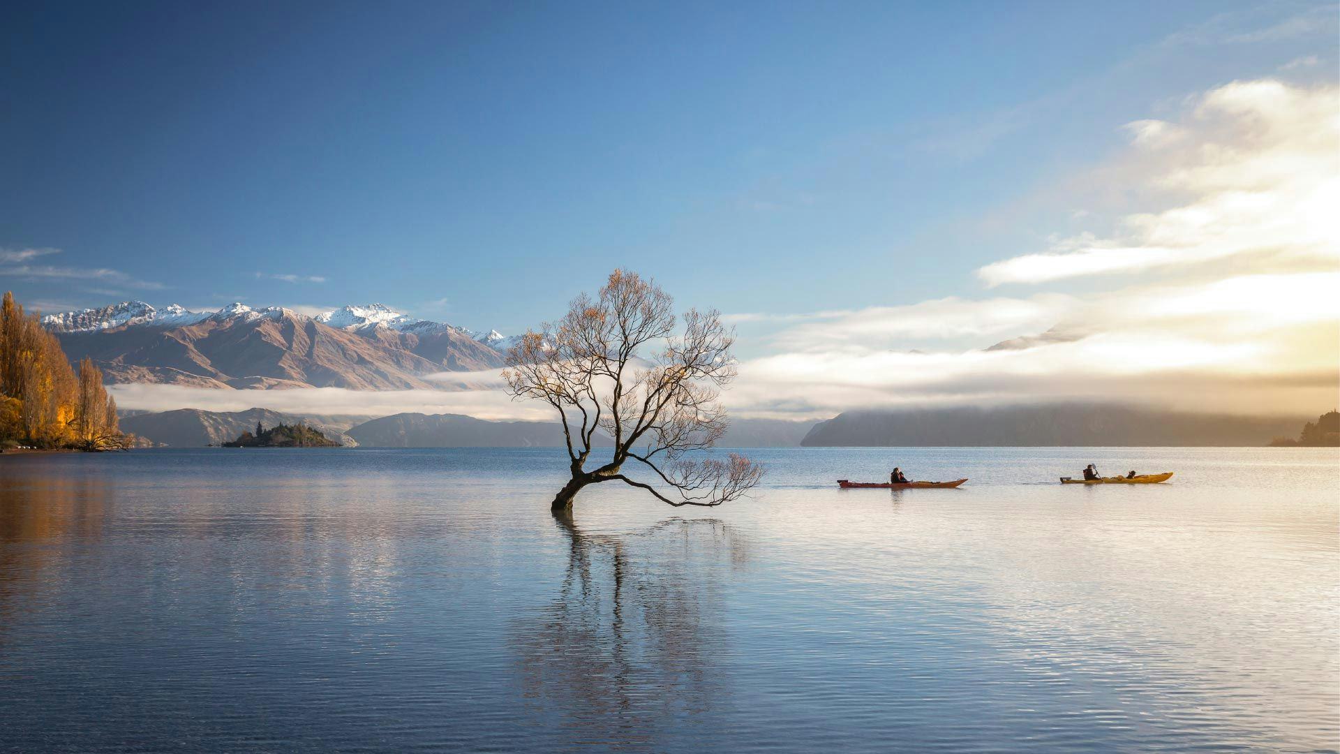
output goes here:
[{"label": "brown mountain range with snow-capped peaks at left", "polygon": [[316,317],[230,303],[218,311],[123,302],[43,318],[71,361],[92,358],[111,382],[210,388],[413,389],[442,372],[503,366],[507,338],[419,319],[383,305]]}]

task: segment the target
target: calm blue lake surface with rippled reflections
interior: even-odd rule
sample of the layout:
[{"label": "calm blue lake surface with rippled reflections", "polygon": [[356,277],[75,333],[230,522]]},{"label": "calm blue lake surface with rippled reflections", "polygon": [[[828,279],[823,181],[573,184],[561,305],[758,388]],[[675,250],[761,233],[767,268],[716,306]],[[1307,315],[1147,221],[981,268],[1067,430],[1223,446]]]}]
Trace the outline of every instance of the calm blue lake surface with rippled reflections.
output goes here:
[{"label": "calm blue lake surface with rippled reflections", "polygon": [[[555,449],[0,456],[0,750],[1340,747],[1335,449],[752,455],[571,521]],[[970,482],[833,484],[895,463]]]}]

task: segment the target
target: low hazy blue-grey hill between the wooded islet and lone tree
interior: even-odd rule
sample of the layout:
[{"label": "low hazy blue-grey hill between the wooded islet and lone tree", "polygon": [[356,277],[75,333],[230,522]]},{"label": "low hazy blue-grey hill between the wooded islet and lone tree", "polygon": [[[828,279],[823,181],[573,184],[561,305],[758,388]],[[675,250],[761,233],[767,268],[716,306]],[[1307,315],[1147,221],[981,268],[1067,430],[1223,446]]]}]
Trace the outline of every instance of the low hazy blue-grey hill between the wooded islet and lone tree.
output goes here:
[{"label": "low hazy blue-grey hill between the wooded islet and lone tree", "polygon": [[[397,413],[348,429],[359,445],[378,448],[561,447],[563,428],[551,421],[485,421],[457,413]],[[607,439],[596,444],[610,445]]]}]

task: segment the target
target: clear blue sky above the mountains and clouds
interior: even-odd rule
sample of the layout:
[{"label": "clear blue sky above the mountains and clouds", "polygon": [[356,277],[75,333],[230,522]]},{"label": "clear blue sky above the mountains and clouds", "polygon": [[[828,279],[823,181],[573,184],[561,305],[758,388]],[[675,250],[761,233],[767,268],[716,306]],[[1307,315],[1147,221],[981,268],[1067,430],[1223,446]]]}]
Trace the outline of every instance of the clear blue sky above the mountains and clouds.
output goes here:
[{"label": "clear blue sky above the mountains and clouds", "polygon": [[507,333],[615,266],[769,317],[997,295],[976,270],[1139,204],[1068,188],[1124,123],[1337,66],[1316,3],[9,8],[21,301],[379,301]]}]

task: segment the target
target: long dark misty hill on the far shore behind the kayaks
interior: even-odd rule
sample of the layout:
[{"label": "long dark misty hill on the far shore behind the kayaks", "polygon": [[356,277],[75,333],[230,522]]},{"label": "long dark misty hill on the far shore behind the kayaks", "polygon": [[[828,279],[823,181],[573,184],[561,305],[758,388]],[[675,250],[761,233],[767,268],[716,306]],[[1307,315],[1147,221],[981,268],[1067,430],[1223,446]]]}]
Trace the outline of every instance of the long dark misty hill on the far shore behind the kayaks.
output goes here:
[{"label": "long dark misty hill on the far shore behind the kayaks", "polygon": [[820,421],[805,447],[1254,445],[1290,435],[1298,417],[1177,413],[1123,405],[848,411]]}]

